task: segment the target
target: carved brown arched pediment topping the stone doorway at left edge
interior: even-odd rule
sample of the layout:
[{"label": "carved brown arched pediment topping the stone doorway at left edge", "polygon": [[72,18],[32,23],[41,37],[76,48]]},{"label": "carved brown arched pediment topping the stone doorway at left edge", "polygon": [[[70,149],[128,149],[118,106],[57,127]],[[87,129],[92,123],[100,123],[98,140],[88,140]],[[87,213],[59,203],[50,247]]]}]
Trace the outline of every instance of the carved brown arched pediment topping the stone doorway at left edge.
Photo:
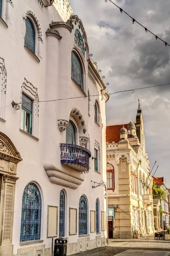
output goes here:
[{"label": "carved brown arched pediment topping the stone doorway at left edge", "polygon": [[0,131],[0,158],[13,163],[19,163],[22,158],[11,140]]}]

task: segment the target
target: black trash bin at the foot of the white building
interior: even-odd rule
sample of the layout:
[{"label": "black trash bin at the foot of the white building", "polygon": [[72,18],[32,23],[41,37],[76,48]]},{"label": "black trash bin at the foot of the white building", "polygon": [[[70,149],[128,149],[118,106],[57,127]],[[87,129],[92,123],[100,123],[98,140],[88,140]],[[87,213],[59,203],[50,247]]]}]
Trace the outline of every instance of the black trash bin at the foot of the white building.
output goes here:
[{"label": "black trash bin at the foot of the white building", "polygon": [[55,239],[54,256],[66,256],[66,255],[67,255],[67,239],[65,237],[59,237]]}]

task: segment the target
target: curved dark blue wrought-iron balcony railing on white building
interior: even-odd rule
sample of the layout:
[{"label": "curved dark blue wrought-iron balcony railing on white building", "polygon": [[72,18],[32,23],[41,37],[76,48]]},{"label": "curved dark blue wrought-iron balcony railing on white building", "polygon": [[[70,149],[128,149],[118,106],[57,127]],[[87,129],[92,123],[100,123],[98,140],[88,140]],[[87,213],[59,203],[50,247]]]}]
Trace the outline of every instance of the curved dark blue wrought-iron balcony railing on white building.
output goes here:
[{"label": "curved dark blue wrought-iron balcony railing on white building", "polygon": [[73,144],[60,144],[60,151],[62,164],[66,164],[79,172],[88,172],[91,152],[87,148]]}]

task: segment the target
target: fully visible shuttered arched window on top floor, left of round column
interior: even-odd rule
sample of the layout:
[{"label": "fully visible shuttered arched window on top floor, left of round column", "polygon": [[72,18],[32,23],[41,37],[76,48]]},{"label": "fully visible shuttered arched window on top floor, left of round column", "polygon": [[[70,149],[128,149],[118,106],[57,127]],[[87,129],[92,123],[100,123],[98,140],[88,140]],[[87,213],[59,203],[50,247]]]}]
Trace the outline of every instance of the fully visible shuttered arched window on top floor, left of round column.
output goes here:
[{"label": "fully visible shuttered arched window on top floor, left of round column", "polygon": [[35,53],[35,30],[31,20],[28,17],[26,19],[26,35],[24,45]]}]

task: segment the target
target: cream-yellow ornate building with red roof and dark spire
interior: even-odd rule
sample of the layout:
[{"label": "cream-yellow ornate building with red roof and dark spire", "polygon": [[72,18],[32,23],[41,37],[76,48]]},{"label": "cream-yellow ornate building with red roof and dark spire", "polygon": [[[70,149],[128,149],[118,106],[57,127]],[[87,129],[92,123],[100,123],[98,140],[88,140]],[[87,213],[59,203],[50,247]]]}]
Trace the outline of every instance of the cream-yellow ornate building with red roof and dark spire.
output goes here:
[{"label": "cream-yellow ornate building with red roof and dark spire", "polygon": [[114,218],[108,217],[113,238],[132,238],[135,230],[153,233],[153,179],[140,104],[136,123],[107,126],[106,141],[108,208],[116,208]]}]

